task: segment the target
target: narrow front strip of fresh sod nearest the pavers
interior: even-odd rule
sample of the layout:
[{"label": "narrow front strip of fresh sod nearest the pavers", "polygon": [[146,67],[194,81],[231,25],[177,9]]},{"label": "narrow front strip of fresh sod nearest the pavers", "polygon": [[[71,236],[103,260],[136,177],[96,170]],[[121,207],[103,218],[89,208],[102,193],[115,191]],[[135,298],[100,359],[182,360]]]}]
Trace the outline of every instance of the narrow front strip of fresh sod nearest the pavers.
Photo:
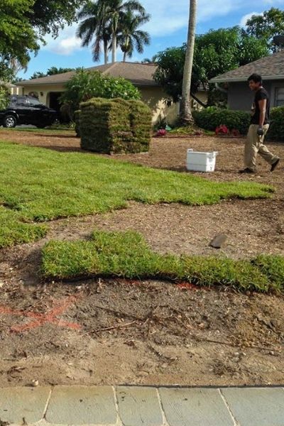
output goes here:
[{"label": "narrow front strip of fresh sod nearest the pavers", "polygon": [[50,241],[42,253],[45,278],[163,278],[209,287],[227,285],[241,291],[284,289],[284,257],[261,256],[250,262],[160,255],[134,231],[94,231],[91,241]]}]

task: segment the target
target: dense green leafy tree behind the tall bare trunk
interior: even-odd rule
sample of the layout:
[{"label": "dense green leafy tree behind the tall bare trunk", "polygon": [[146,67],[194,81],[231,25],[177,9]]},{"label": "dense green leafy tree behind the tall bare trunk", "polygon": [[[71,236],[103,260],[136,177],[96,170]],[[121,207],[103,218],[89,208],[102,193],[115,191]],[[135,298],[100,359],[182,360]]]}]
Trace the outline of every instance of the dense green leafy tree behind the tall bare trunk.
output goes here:
[{"label": "dense green leafy tree behind the tall bare trunk", "polygon": [[[154,78],[168,94],[168,102],[178,102],[182,94],[186,47],[184,44],[157,54],[158,68]],[[267,45],[263,40],[246,34],[238,26],[211,30],[206,34],[197,35],[191,93],[195,94],[200,84],[208,84],[213,77],[268,54]]]}]

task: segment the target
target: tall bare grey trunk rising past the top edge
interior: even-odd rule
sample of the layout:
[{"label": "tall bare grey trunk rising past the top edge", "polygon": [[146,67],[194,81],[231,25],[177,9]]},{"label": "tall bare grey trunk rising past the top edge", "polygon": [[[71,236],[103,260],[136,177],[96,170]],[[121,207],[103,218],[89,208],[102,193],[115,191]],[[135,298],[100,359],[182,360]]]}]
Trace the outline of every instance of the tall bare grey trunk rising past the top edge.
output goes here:
[{"label": "tall bare grey trunk rising past the top edge", "polygon": [[185,54],[185,67],[182,80],[182,99],[180,102],[180,119],[182,124],[193,123],[190,107],[190,85],[193,65],[193,55],[195,52],[195,27],[197,16],[197,0],[190,0],[190,19],[188,23],[187,50]]}]

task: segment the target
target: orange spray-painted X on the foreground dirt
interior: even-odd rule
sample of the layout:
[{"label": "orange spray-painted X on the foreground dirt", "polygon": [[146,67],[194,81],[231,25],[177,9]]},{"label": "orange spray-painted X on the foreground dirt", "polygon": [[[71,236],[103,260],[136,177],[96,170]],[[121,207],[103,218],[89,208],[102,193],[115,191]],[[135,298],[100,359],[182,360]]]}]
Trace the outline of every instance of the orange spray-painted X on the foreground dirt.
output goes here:
[{"label": "orange spray-painted X on the foreground dirt", "polygon": [[67,308],[70,307],[70,305],[72,305],[76,299],[77,297],[70,296],[65,298],[64,300],[58,300],[57,302],[55,302],[55,307],[53,308],[53,310],[50,310],[50,312],[46,314],[12,310],[11,308],[4,306],[0,306],[0,314],[13,315],[16,317],[26,317],[31,319],[31,322],[28,322],[28,324],[11,327],[11,332],[26,332],[37,327],[42,327],[43,325],[48,323],[55,324],[58,327],[67,327],[70,329],[78,330],[82,328],[80,324],[76,324],[75,322],[63,321],[58,318],[58,316],[62,315],[62,313],[65,312],[65,310],[67,310]]}]

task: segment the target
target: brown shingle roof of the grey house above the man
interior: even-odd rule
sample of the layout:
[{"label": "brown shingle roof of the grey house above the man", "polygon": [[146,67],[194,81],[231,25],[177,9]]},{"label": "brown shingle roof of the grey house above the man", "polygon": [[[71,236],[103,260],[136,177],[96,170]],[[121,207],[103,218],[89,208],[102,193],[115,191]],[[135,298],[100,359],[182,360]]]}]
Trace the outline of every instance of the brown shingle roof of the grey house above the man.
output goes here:
[{"label": "brown shingle roof of the grey house above the man", "polygon": [[243,82],[256,72],[263,77],[263,80],[283,80],[284,79],[284,50],[274,53],[266,58],[261,58],[251,62],[250,64],[243,65],[236,70],[225,72],[225,74],[218,75],[212,78],[210,82]]}]

